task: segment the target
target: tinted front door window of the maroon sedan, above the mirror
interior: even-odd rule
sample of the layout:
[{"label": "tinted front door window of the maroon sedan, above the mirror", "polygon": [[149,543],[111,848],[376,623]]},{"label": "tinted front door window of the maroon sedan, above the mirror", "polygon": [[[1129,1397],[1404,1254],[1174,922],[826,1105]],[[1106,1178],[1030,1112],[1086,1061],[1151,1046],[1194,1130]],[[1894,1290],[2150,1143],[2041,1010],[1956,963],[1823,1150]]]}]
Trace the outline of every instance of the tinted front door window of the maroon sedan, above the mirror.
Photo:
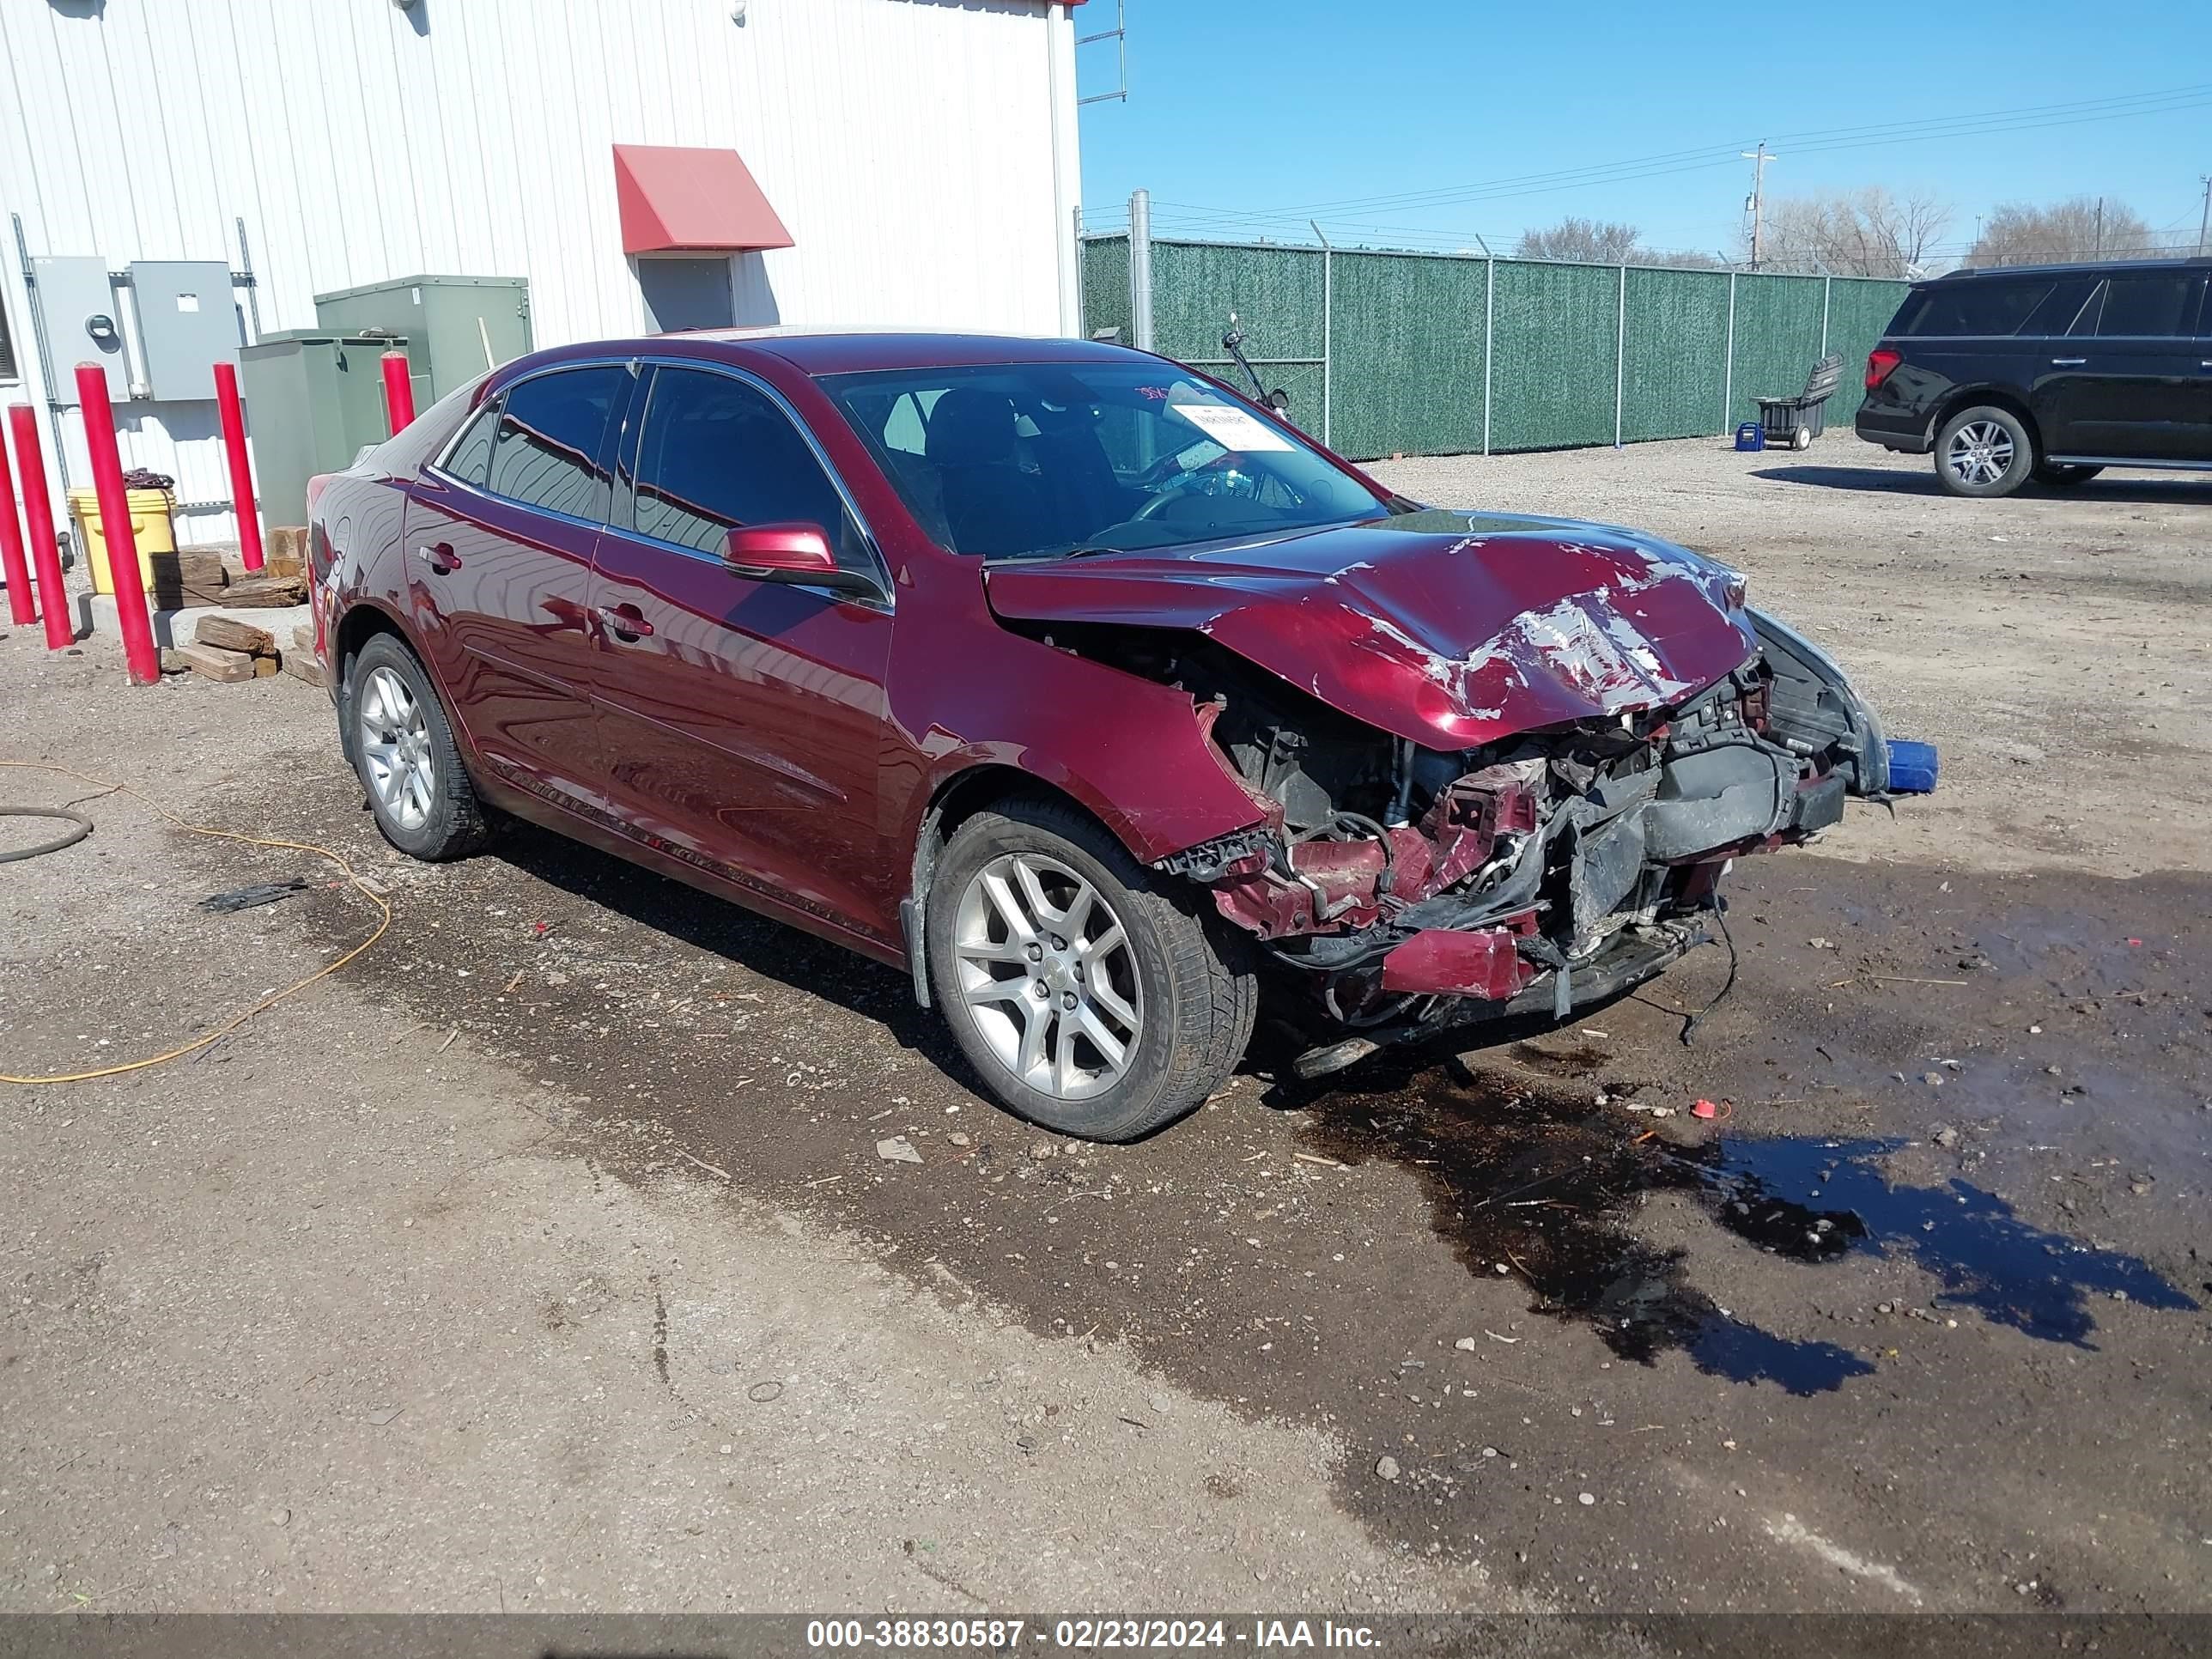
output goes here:
[{"label": "tinted front door window of the maroon sedan, above the mirror", "polygon": [[721,553],[739,524],[821,524],[838,564],[869,568],[858,526],[807,440],[728,374],[659,369],[637,440],[635,522],[657,542]]}]

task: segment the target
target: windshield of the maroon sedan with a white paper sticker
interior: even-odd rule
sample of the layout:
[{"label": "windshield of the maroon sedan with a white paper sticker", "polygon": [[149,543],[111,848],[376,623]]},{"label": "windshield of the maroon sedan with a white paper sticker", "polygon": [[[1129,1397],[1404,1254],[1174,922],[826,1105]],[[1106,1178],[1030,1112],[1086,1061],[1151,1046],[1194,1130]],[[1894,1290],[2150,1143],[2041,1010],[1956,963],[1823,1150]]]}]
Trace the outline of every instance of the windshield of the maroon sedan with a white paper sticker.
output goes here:
[{"label": "windshield of the maroon sedan with a white paper sticker", "polygon": [[938,546],[1179,546],[1380,518],[1296,434],[1172,363],[987,363],[821,380]]}]

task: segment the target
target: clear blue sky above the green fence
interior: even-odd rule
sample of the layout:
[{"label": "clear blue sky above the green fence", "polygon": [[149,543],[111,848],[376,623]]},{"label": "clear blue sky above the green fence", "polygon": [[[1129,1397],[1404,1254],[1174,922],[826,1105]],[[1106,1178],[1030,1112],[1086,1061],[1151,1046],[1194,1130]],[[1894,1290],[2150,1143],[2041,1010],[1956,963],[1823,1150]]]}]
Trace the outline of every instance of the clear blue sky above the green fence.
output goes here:
[{"label": "clear blue sky above the green fence", "polygon": [[[1573,212],[1635,223],[1652,248],[1732,252],[1752,166],[1725,153],[1767,139],[1770,195],[1931,188],[1955,206],[1953,254],[1991,206],[2068,195],[2117,197],[2194,239],[2212,173],[2212,44],[2203,31],[2190,44],[2194,4],[1128,0],[1128,104],[1082,111],[1084,215],[1113,228],[1146,186],[1164,230],[1223,239],[1312,241],[1316,212],[1338,243],[1480,234],[1502,252]],[[1944,33],[1938,15],[1982,22]],[[1075,22],[1110,29],[1113,0]],[[1113,86],[1110,42],[1077,62],[1084,93]],[[2046,108],[2152,95],[2161,108],[2124,119]],[[2031,108],[2046,113],[1958,131]],[[1889,124],[1942,131],[1847,131]],[[1630,168],[1615,164],[1646,159],[1644,177],[1619,177]],[[1615,175],[1533,181],[1577,168]],[[1458,199],[1365,201],[1416,192]]]}]

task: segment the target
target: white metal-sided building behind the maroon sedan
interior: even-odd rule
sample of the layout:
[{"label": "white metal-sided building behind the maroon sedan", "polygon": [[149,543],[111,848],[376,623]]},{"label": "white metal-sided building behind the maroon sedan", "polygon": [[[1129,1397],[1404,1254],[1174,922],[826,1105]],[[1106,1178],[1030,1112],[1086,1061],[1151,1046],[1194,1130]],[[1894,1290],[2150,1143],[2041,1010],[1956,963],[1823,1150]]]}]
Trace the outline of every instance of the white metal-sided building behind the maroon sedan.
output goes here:
[{"label": "white metal-sided building behind the maroon sedan", "polygon": [[[0,403],[42,411],[73,484],[84,323],[46,319],[49,420],[24,257],[228,261],[246,343],[409,274],[526,279],[535,345],[721,316],[1079,327],[1066,2],[0,0]],[[617,199],[615,146],[699,168],[630,150]],[[124,465],[177,478],[179,540],[228,538],[215,405],[124,403],[157,387],[115,296]]]}]

